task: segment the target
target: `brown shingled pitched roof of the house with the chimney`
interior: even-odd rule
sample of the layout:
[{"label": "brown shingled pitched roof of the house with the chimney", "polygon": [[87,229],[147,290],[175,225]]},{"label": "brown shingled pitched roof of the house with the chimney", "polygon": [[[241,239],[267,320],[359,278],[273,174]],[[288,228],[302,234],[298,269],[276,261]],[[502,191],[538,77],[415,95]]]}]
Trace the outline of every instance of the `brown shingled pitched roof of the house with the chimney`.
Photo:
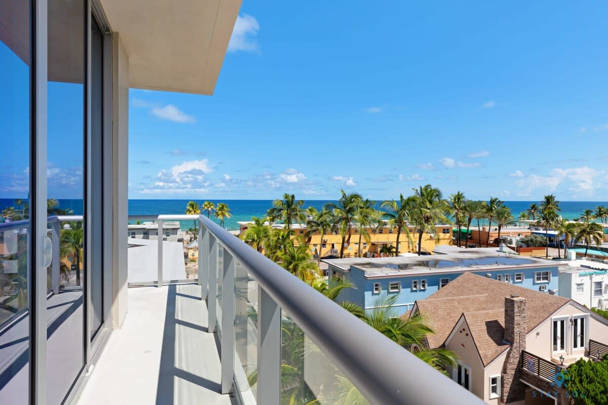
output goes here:
[{"label": "brown shingled pitched roof of the house with the chimney", "polygon": [[484,365],[503,352],[505,297],[519,294],[526,299],[526,327],[530,333],[552,313],[565,305],[567,298],[529,288],[464,273],[429,298],[416,301],[435,335],[427,336],[429,347],[444,345],[460,319],[465,319]]}]

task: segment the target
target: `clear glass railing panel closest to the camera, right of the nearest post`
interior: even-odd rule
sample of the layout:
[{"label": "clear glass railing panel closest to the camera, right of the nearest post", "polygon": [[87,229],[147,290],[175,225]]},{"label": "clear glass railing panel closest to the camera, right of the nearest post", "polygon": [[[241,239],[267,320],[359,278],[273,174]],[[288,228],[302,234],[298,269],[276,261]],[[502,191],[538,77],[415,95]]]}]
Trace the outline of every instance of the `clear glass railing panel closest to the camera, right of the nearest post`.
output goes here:
[{"label": "clear glass railing panel closest to the camera, right of the nearest post", "polygon": [[285,312],[281,317],[281,403],[369,404]]}]

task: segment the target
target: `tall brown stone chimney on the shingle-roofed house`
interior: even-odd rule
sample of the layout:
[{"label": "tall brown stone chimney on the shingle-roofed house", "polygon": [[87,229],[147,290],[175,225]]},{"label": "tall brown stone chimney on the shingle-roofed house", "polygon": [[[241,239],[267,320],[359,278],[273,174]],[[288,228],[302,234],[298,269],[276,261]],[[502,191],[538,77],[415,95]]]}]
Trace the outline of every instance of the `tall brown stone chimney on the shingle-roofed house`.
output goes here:
[{"label": "tall brown stone chimney on the shingle-roofed house", "polygon": [[511,347],[502,367],[500,400],[503,404],[525,400],[525,386],[519,381],[519,360],[526,350],[526,299],[518,294],[505,298],[505,342]]}]

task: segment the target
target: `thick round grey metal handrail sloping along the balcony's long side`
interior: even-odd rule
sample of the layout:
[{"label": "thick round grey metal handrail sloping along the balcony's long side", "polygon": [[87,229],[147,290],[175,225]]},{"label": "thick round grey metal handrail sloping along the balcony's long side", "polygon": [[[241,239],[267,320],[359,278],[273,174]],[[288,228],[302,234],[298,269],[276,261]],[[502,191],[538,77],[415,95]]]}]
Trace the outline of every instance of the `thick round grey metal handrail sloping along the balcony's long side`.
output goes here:
[{"label": "thick round grey metal handrail sloping along the balcony's long side", "polygon": [[206,216],[199,222],[371,403],[484,403]]}]

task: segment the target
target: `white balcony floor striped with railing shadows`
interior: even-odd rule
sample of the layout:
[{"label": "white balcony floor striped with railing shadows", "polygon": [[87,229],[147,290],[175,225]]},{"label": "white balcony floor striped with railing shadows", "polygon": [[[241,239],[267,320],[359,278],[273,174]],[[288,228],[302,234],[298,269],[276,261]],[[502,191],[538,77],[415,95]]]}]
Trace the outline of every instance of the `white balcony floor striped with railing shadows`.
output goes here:
[{"label": "white balcony floor striped with railing shadows", "polygon": [[128,289],[128,313],[109,336],[78,405],[231,404],[207,306],[196,284]]}]

